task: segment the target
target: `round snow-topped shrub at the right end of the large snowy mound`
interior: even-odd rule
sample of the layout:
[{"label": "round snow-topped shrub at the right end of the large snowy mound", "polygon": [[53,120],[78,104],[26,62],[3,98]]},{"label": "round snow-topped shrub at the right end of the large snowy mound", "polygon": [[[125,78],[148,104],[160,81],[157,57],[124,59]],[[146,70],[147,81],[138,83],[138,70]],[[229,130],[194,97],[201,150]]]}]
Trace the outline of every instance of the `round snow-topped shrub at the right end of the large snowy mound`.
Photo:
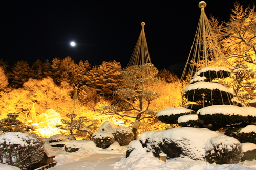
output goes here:
[{"label": "round snow-topped shrub at the right end of the large snowy mound", "polygon": [[205,147],[205,157],[209,163],[238,163],[243,157],[241,143],[226,135],[211,138]]}]

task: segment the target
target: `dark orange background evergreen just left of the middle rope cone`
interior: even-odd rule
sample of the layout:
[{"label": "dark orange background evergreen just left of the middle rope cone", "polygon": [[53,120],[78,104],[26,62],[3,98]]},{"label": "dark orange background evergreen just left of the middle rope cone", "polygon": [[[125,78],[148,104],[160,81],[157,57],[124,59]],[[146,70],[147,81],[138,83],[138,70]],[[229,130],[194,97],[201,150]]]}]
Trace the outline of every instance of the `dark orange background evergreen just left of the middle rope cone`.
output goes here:
[{"label": "dark orange background evergreen just left of the middle rope cone", "polygon": [[88,72],[86,84],[95,88],[100,96],[111,98],[120,83],[121,71],[119,62],[103,61],[101,65],[93,67]]}]

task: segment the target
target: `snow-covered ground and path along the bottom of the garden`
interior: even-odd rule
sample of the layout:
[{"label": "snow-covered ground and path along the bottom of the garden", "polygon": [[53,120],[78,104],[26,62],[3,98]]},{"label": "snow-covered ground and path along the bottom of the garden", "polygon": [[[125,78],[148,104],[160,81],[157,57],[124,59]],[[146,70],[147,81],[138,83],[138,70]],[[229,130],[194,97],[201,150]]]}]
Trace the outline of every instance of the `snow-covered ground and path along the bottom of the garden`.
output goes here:
[{"label": "snow-covered ground and path along the bottom of the garden", "polygon": [[[137,140],[132,141],[133,145],[139,145]],[[140,144],[141,146],[141,144]],[[80,149],[76,152],[65,152],[62,148],[52,147],[56,151],[57,161],[55,167],[49,170],[70,170],[70,169],[120,169],[120,170],[250,170],[256,169],[256,160],[244,161],[238,164],[209,164],[206,161],[191,160],[187,158],[174,158],[166,162],[153,157],[151,153],[146,153],[141,147],[141,152],[132,154],[125,158],[126,147],[119,150],[108,150],[96,147],[95,149]],[[0,170],[18,170],[19,168],[0,164]]]}]

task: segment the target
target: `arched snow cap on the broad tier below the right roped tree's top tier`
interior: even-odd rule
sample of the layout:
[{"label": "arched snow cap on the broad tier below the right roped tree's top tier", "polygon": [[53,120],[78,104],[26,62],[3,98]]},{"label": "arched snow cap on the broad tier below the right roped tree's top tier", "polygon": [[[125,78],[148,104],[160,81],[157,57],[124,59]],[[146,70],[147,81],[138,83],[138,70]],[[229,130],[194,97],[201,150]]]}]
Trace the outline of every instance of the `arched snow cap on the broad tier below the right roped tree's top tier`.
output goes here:
[{"label": "arched snow cap on the broad tier below the right roped tree's top tier", "polygon": [[211,82],[196,82],[194,84],[190,84],[185,88],[183,93],[185,94],[187,91],[196,90],[196,89],[210,89],[210,90],[219,89],[220,91],[225,91],[234,95],[234,93],[227,87],[219,83],[211,83]]}]

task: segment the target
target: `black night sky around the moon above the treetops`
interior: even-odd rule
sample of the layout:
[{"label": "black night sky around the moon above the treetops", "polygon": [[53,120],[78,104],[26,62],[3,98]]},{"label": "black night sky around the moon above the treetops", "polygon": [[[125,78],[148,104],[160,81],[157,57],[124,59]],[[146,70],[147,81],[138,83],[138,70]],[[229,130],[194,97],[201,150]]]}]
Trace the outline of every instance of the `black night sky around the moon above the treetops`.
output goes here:
[{"label": "black night sky around the moon above the treetops", "polygon": [[[200,1],[12,1],[1,3],[0,58],[25,60],[70,56],[92,65],[116,60],[125,67],[144,26],[152,63],[169,68],[186,62]],[[228,21],[235,0],[205,1],[210,14]],[[252,0],[240,0],[245,7]],[[71,47],[75,41],[77,46]]]}]

